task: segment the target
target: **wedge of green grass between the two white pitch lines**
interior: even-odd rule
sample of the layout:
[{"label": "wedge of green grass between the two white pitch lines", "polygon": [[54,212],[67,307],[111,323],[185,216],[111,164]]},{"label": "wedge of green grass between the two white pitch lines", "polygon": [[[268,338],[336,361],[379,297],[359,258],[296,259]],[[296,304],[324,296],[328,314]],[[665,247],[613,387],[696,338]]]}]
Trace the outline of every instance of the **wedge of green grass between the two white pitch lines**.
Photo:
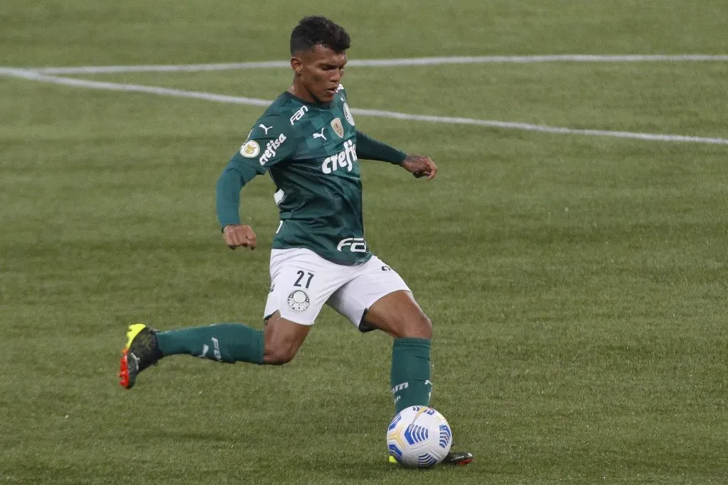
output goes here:
[{"label": "wedge of green grass between the two white pitch lines", "polygon": [[[91,79],[274,100],[290,84],[289,71],[116,73]],[[360,108],[723,137],[727,116],[715,105],[725,98],[727,78],[727,63],[542,63],[351,67],[343,82]]]}]

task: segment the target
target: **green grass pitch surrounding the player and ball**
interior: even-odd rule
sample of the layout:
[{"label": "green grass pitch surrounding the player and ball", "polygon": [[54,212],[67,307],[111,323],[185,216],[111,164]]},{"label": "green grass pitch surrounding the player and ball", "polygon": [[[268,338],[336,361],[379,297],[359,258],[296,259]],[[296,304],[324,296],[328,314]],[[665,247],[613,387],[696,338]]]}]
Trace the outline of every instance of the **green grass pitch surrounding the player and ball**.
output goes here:
[{"label": "green grass pitch surrounding the player and ball", "polygon": [[[285,60],[323,13],[350,59],[728,53],[724,1],[47,1],[0,5],[0,67]],[[728,63],[349,68],[352,107],[728,137]],[[272,100],[285,69],[76,75]],[[214,188],[262,108],[0,76],[0,484],[728,481],[727,145],[357,117],[440,166],[361,162],[370,246],[435,324],[462,468],[386,462],[391,340],[326,308],[282,367],[162,361],[127,324],[261,327],[277,215]]]}]

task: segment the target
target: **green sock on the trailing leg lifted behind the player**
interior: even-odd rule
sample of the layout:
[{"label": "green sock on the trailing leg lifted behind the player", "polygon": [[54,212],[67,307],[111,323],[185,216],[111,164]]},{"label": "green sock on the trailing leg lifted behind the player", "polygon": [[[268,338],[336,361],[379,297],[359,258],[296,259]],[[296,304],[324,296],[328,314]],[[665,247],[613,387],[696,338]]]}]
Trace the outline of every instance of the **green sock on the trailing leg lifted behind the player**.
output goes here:
[{"label": "green sock on the trailing leg lifted behind the player", "polygon": [[263,364],[263,331],[245,324],[214,324],[157,334],[165,356],[187,353],[218,362]]}]

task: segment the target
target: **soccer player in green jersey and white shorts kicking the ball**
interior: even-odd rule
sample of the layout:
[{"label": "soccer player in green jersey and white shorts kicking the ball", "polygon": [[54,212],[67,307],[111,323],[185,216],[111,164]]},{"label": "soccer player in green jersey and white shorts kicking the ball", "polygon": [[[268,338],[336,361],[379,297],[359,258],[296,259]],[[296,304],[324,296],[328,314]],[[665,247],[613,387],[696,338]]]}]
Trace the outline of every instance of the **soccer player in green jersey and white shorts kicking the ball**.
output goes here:
[{"label": "soccer player in green jersey and white shorts kicking the ball", "polygon": [[[359,132],[340,84],[349,35],[325,17],[306,17],[290,37],[293,85],[253,125],[217,184],[217,212],[231,248],[255,249],[256,234],[240,222],[240,191],[266,172],[280,212],[270,259],[271,289],[263,330],[214,324],[157,332],[134,324],[127,332],[121,384],[160,358],[189,354],[220,362],[285,364],[293,359],[324,304],[361,332],[394,337],[395,412],[430,403],[432,324],[395,270],[373,255],[364,238],[359,160],[399,165],[432,180],[427,156],[396,150]],[[465,464],[472,454],[450,452]]]}]

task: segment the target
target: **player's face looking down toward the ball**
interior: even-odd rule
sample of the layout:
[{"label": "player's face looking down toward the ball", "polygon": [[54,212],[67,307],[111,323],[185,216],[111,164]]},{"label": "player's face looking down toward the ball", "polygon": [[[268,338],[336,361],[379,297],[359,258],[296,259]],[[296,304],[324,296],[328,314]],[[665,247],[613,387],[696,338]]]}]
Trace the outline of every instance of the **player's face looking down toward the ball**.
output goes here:
[{"label": "player's face looking down toward the ball", "polygon": [[294,57],[291,63],[296,71],[296,79],[306,94],[317,103],[330,103],[344,77],[347,53],[316,45]]}]

